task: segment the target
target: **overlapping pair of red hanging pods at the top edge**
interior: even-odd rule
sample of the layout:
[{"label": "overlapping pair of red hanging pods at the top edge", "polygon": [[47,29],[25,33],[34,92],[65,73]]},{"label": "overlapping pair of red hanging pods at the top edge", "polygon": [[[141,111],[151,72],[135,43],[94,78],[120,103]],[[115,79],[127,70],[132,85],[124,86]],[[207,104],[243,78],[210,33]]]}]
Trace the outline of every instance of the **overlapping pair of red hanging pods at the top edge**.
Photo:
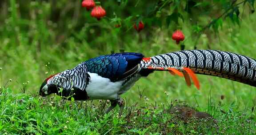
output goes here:
[{"label": "overlapping pair of red hanging pods at the top edge", "polygon": [[96,5],[94,0],[83,0],[82,7],[85,7],[88,11],[92,8],[91,16],[100,20],[106,16],[106,11],[99,5]]}]

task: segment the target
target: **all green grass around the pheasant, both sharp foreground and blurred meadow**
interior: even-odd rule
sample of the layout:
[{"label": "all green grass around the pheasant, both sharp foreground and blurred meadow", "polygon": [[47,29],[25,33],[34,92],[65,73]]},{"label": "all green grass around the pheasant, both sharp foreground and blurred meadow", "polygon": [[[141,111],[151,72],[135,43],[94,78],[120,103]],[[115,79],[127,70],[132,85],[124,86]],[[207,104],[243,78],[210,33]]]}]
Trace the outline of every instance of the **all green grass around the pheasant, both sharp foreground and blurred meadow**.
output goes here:
[{"label": "all green grass around the pheasant, both sharp foreground and blurred meadow", "polygon": [[[255,134],[256,116],[252,111],[256,104],[255,87],[213,76],[198,75],[201,85],[198,91],[194,86],[186,86],[184,78],[155,72],[122,95],[126,107],[121,118],[117,118],[117,108],[104,115],[105,102],[35,96],[43,80],[53,72],[112,50],[155,56],[178,51],[180,46],[171,39],[173,28],[146,25],[139,34],[132,28],[116,29],[106,19],[100,22],[88,19],[89,12],[76,8],[80,7],[79,2],[76,5],[73,2],[64,5],[65,0],[56,5],[27,2],[28,8],[16,3],[16,0],[3,2],[0,12],[0,67],[3,68],[0,134]],[[70,5],[74,7],[69,8]],[[63,9],[55,22],[51,21],[52,8]],[[81,17],[68,18],[70,14],[76,15],[74,9]],[[205,16],[199,19],[206,23],[211,20]],[[254,14],[244,15],[240,26],[225,20],[219,35],[207,30],[198,42],[191,34],[189,17],[184,20],[185,49],[193,49],[197,44],[198,49],[224,50],[256,58]],[[144,91],[142,98],[139,89]],[[184,122],[168,112],[172,105],[178,104],[176,101],[211,114],[216,123],[195,119]]]}]

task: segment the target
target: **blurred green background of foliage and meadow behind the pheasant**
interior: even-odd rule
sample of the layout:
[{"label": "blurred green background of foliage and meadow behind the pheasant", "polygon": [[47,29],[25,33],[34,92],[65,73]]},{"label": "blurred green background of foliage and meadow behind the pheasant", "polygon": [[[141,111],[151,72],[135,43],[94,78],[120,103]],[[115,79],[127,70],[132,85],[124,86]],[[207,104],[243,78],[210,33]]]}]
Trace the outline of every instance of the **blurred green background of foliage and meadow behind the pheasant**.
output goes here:
[{"label": "blurred green background of foliage and meadow behind the pheasant", "polygon": [[[14,93],[37,95],[54,72],[112,52],[145,56],[184,49],[215,49],[256,58],[254,0],[100,0],[106,11],[100,21],[81,0],[0,0],[0,86]],[[137,32],[134,24],[144,23]],[[172,33],[185,40],[177,45]],[[170,103],[190,106],[252,107],[255,87],[198,75],[201,89],[184,78],[155,72],[123,95],[129,103]],[[144,91],[140,98],[140,91]],[[222,99],[221,99],[222,97]],[[146,102],[144,102],[146,101]],[[235,103],[235,105],[234,105]]]}]

